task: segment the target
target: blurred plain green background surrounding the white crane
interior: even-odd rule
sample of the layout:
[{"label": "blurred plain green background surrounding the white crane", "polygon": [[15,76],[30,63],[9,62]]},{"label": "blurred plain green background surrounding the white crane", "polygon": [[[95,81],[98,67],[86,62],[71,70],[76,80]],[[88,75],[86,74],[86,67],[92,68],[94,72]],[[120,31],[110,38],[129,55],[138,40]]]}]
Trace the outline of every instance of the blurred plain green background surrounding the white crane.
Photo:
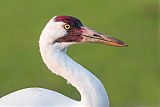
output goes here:
[{"label": "blurred plain green background surrounding the white crane", "polygon": [[39,54],[39,35],[54,15],[78,17],[86,26],[129,44],[71,46],[69,55],[104,84],[111,107],[158,107],[158,1],[0,0],[0,96],[43,87],[80,99],[52,74]]}]

